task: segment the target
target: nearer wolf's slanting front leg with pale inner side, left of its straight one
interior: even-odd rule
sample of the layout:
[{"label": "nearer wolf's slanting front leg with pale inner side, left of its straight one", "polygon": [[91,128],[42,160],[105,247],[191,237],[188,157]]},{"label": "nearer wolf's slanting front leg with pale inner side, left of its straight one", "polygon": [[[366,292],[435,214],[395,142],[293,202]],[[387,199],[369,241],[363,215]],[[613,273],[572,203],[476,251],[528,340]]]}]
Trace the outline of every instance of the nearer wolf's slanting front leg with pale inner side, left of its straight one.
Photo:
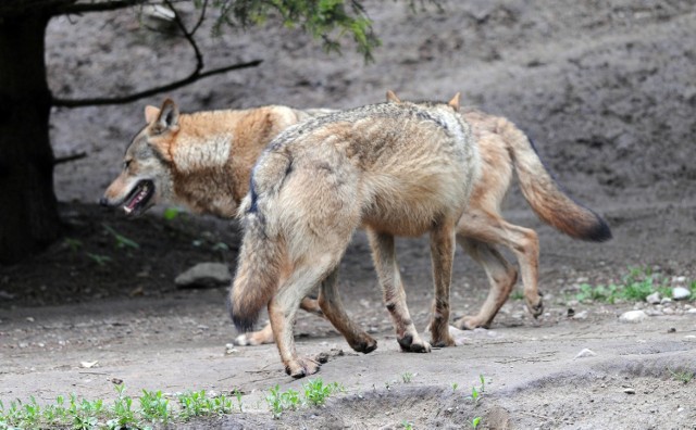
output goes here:
[{"label": "nearer wolf's slanting front leg with pale inner side, left of its straight one", "polygon": [[368,237],[370,238],[374,266],[384,292],[384,304],[391,316],[401,351],[431,352],[430,343],[421,339],[415,330],[406,304],[406,292],[401,284],[401,276],[396,262],[394,236],[368,229]]}]

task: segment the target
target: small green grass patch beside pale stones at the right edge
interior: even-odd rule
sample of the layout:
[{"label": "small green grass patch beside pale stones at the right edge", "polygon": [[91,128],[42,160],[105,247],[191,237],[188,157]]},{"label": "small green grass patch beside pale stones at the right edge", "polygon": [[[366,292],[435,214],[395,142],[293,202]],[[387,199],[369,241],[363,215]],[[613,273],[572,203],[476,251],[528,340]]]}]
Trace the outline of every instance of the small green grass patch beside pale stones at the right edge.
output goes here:
[{"label": "small green grass patch beside pale stones at the right edge", "polygon": [[[691,288],[692,291],[696,291],[696,281],[692,281]],[[672,288],[667,277],[654,273],[648,267],[629,267],[629,273],[619,283],[608,286],[582,283],[580,291],[575,293],[575,300],[604,303],[641,302],[654,292],[659,292],[662,296],[670,296],[671,291]]]}]

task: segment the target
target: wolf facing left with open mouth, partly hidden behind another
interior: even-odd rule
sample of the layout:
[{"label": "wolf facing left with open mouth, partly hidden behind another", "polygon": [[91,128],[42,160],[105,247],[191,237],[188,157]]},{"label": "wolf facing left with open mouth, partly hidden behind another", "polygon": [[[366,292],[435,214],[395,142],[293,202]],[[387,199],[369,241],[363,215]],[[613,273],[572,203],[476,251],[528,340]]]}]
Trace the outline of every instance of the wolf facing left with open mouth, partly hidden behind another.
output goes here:
[{"label": "wolf facing left with open mouth, partly hidden behind another", "polygon": [[[398,101],[394,93],[389,101]],[[294,110],[263,106],[237,111],[179,114],[171,100],[160,109],[146,108],[146,127],[128,146],[121,175],[109,186],[102,204],[123,205],[138,215],[154,203],[177,203],[197,213],[232,217],[249,189],[251,167],[278,132],[331,110]],[[517,270],[496,250],[517,256],[527,307],[539,315],[537,292],[538,240],[534,230],[507,223],[499,205],[513,169],[532,208],[546,223],[569,236],[601,241],[611,237],[601,218],[568,197],[555,185],[527,137],[504,117],[464,111],[478,147],[483,169],[458,225],[457,241],[486,270],[490,292],[475,316],[455,321],[459,328],[487,327],[506,302]],[[330,281],[334,278],[327,278]],[[321,314],[315,300],[302,307]],[[237,338],[241,344],[273,341],[271,325]]]}]

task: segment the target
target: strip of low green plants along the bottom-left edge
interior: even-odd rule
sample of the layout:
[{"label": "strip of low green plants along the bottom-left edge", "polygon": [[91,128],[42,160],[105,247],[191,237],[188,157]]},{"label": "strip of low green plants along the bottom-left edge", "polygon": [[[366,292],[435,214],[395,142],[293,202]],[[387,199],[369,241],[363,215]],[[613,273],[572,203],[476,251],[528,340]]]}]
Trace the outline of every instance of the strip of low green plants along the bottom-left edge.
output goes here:
[{"label": "strip of low green plants along the bottom-left edge", "polygon": [[[151,429],[192,417],[231,414],[232,397],[224,394],[211,396],[201,391],[178,394],[177,405],[172,405],[162,391],[142,390],[138,399],[126,394],[125,385],[115,385],[116,397],[112,405],[103,400],[89,401],[75,394],[59,395],[53,404],[40,406],[34,396],[28,402],[20,400],[9,405],[0,402],[0,430],[4,429]],[[241,410],[241,400],[239,409]]]}]

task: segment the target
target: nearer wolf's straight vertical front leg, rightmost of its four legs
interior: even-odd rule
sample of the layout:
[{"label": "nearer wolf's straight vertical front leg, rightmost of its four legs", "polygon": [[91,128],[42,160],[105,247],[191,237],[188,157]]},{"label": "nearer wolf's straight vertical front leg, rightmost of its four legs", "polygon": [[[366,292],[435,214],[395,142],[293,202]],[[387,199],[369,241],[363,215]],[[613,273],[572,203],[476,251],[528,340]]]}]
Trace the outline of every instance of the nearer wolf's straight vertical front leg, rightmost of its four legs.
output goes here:
[{"label": "nearer wolf's straight vertical front leg, rightmost of its four legs", "polygon": [[431,334],[434,346],[455,345],[455,340],[449,334],[449,286],[452,280],[455,240],[452,222],[443,220],[431,230],[431,258],[435,283]]}]

